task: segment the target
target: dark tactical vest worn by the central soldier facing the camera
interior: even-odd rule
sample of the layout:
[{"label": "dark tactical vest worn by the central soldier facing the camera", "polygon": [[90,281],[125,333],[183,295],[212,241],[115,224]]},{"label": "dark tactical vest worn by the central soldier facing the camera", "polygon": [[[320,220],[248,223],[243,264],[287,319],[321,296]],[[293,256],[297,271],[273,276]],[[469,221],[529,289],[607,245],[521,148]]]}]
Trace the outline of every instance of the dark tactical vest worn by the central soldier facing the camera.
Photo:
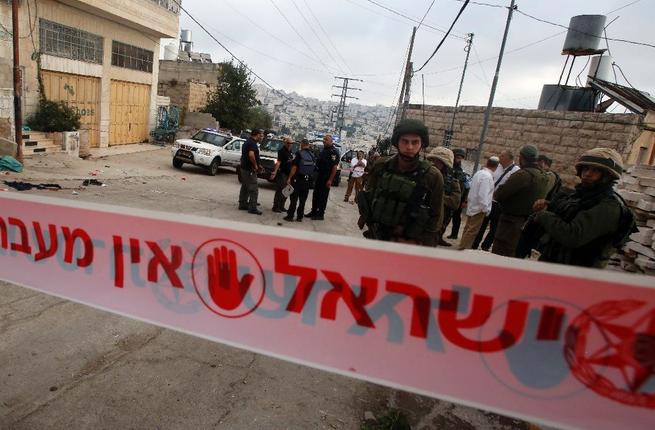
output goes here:
[{"label": "dark tactical vest worn by the central soldier facing the camera", "polygon": [[392,171],[387,164],[373,190],[371,221],[386,231],[402,227],[405,238],[421,240],[434,216],[429,206],[430,191],[425,184],[430,167],[423,160],[413,174],[406,175]]}]

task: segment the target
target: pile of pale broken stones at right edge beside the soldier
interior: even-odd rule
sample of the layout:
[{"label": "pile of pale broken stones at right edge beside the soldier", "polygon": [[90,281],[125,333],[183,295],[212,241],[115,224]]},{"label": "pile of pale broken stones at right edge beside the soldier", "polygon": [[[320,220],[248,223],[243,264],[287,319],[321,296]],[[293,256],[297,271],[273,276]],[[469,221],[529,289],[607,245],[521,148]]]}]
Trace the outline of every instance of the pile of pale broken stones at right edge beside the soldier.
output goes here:
[{"label": "pile of pale broken stones at right edge beside the soldier", "polygon": [[610,264],[621,269],[655,276],[655,166],[634,166],[627,170],[617,193],[632,209],[638,233],[630,236],[621,255]]}]

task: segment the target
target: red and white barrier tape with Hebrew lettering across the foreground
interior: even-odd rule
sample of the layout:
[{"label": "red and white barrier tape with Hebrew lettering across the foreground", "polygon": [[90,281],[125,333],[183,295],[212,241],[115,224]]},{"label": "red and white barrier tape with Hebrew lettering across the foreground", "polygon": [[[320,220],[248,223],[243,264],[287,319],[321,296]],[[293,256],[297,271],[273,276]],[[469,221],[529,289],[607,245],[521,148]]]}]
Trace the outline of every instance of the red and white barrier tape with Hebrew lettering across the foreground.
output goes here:
[{"label": "red and white barrier tape with Hebrew lettering across the foreground", "polygon": [[193,216],[0,197],[6,281],[546,425],[652,428],[652,278],[346,242]]}]

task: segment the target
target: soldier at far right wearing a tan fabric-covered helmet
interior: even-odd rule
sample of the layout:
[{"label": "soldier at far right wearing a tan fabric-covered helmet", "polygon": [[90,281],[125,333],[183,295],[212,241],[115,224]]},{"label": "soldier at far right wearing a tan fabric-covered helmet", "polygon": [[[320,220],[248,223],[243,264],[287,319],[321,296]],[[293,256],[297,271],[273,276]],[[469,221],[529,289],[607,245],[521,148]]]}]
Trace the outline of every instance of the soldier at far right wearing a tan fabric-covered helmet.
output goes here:
[{"label": "soldier at far right wearing a tan fabric-covered helmet", "polygon": [[634,231],[634,215],[612,189],[623,161],[613,149],[595,148],[575,168],[581,182],[573,194],[534,204],[534,222],[542,229],[540,260],[602,268]]}]

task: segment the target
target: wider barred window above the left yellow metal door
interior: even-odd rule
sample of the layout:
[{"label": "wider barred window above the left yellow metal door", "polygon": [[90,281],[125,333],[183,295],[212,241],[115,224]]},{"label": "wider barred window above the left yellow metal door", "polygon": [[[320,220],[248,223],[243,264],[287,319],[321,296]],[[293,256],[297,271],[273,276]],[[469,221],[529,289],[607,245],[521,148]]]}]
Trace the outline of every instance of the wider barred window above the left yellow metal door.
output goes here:
[{"label": "wider barred window above the left yellow metal door", "polygon": [[102,64],[102,36],[39,18],[39,38],[43,54]]}]

